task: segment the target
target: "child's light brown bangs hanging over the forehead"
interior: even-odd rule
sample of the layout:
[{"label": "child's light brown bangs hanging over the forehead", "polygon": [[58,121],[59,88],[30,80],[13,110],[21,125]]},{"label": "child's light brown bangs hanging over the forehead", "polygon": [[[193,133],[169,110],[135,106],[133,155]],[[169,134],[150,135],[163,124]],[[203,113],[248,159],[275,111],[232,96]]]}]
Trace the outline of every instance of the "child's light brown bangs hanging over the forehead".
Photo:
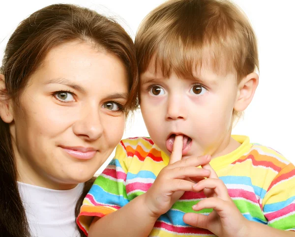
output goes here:
[{"label": "child's light brown bangs hanging over the forehead", "polygon": [[153,68],[155,74],[159,73],[163,77],[170,77],[171,73],[175,73],[186,79],[198,78],[202,68],[217,75],[236,73],[233,47],[226,47],[224,39],[224,45],[220,47],[220,39],[198,43],[196,40],[170,35],[159,38],[161,40],[154,43],[139,62],[140,73]]}]

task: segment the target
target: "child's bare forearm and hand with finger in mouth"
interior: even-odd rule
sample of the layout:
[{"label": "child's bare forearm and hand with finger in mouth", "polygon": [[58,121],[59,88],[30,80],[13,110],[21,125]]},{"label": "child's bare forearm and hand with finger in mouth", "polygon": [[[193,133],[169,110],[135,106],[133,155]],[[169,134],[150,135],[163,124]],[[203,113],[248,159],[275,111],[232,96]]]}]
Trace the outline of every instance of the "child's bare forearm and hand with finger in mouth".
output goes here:
[{"label": "child's bare forearm and hand with finger in mouth", "polygon": [[209,157],[181,160],[181,155],[182,136],[177,136],[169,165],[162,169],[148,191],[117,211],[95,218],[89,228],[89,237],[147,237],[157,218],[166,213],[184,191],[192,191],[194,182],[185,178],[210,174],[206,169],[197,168],[208,164]]}]

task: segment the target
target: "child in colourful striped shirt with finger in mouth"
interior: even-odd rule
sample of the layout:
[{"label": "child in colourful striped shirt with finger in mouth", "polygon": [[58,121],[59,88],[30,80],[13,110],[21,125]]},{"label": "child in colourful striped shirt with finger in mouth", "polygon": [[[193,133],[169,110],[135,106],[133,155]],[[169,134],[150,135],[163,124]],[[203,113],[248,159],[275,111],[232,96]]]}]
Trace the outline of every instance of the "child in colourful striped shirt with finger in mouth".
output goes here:
[{"label": "child in colourful striped shirt with finger in mouth", "polygon": [[80,228],[89,237],[295,236],[294,165],[231,136],[259,80],[243,13],[229,1],[170,0],[135,44],[151,139],[121,141],[84,200]]}]

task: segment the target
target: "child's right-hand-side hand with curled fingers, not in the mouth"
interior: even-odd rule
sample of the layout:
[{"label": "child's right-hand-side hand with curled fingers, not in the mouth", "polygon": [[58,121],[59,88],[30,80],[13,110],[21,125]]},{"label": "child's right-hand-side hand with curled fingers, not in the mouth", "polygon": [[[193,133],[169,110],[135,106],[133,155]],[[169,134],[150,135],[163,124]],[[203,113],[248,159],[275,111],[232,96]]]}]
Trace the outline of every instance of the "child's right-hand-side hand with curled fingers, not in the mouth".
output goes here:
[{"label": "child's right-hand-side hand with curled fingers, not in the mouth", "polygon": [[183,221],[191,226],[207,229],[218,237],[244,237],[247,236],[247,223],[249,222],[240,213],[228,194],[227,187],[218,178],[209,164],[202,166],[211,171],[209,178],[196,183],[193,191],[204,191],[206,199],[193,206],[193,210],[213,208],[209,215],[200,213],[186,213]]}]

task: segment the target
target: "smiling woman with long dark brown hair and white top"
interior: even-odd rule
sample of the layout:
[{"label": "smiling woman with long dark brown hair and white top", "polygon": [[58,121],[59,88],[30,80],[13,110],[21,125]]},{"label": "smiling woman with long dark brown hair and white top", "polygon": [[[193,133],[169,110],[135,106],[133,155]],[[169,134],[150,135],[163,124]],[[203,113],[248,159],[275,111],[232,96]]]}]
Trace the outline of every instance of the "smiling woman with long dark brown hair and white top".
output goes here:
[{"label": "smiling woman with long dark brown hair and white top", "polygon": [[113,20],[54,4],[21,22],[0,69],[1,236],[79,235],[75,215],[136,84],[133,42]]}]

